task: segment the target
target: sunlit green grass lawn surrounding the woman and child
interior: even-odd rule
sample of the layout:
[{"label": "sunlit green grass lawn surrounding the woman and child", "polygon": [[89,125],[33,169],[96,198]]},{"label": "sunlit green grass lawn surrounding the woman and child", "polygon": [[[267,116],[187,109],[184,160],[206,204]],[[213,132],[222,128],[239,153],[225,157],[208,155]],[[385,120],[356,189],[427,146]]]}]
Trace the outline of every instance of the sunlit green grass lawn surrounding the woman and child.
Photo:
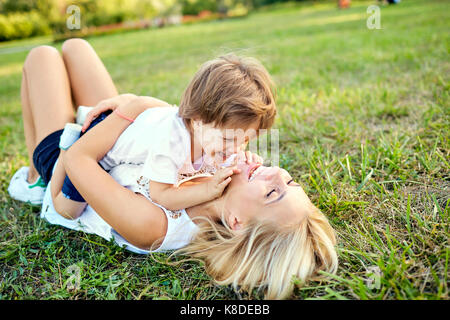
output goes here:
[{"label": "sunlit green grass lawn surrounding the woman and child", "polygon": [[[337,275],[297,288],[295,299],[449,298],[450,5],[383,6],[381,29],[369,30],[372,3],[288,3],[243,19],[89,39],[119,92],[174,104],[218,54],[266,66],[278,86],[280,166],[339,240]],[[0,299],[239,298],[199,263],[170,266],[52,226],[40,208],[8,196],[10,178],[28,165],[20,79],[39,43],[50,44],[0,44]],[[78,290],[67,288],[72,265]]]}]

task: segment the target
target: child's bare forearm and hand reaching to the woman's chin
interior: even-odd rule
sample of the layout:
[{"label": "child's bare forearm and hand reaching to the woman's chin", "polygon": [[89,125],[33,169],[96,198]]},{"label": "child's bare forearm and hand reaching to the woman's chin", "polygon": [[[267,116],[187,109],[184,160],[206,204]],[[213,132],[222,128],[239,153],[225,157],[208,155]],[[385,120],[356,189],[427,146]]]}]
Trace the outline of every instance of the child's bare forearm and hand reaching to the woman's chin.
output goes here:
[{"label": "child's bare forearm and hand reaching to the woman's chin", "polygon": [[220,197],[231,176],[239,172],[236,167],[220,169],[205,182],[183,187],[150,181],[149,194],[153,201],[168,210],[186,209]]}]

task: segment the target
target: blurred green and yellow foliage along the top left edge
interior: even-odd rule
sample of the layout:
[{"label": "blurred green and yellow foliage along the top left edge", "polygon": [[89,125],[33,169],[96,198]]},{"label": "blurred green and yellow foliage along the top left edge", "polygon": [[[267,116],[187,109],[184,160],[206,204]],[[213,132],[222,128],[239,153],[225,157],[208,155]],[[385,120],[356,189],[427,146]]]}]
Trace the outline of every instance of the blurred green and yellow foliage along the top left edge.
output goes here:
[{"label": "blurred green and yellow foliage along the top left edge", "polygon": [[[287,0],[0,0],[0,41],[68,32],[67,7],[80,9],[80,28],[193,16],[202,12],[217,17],[243,16],[249,11]],[[301,1],[301,0],[300,0]]]}]

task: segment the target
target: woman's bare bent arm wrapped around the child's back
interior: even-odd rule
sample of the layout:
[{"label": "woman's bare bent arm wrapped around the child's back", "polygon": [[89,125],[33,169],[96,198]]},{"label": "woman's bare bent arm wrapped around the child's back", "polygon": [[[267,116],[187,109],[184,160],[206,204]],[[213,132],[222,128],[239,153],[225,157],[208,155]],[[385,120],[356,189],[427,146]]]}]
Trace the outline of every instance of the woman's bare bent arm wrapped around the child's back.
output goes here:
[{"label": "woman's bare bent arm wrapped around the child's back", "polygon": [[[120,107],[120,113],[134,119],[151,107],[143,102],[135,99]],[[77,190],[109,225],[130,243],[148,248],[165,235],[165,215],[145,197],[117,183],[98,164],[129,124],[117,114],[111,114],[66,152],[64,165]]]}]

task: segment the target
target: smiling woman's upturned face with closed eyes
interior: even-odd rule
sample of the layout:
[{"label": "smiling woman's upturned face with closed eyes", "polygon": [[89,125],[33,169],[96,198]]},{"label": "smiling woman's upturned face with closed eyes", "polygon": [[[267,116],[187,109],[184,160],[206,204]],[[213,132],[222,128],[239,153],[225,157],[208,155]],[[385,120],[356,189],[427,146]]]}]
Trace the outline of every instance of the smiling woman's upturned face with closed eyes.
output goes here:
[{"label": "smiling woman's upturned face with closed eyes", "polygon": [[242,228],[252,218],[296,223],[311,210],[313,204],[286,170],[247,164],[242,156],[237,167],[241,172],[232,176],[224,197],[226,219],[232,229]]}]

